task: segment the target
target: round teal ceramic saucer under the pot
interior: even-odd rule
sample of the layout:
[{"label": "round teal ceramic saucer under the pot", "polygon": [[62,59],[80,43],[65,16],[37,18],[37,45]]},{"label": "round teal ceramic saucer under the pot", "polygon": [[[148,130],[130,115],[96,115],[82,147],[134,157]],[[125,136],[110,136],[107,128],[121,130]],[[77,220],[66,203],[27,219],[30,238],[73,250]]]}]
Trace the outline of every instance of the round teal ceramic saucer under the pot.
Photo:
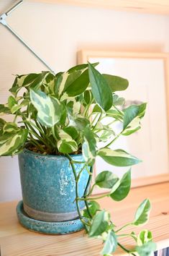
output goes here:
[{"label": "round teal ceramic saucer under the pot", "polygon": [[62,222],[37,221],[34,218],[30,218],[27,216],[27,213],[24,212],[22,201],[17,205],[17,217],[19,223],[21,223],[24,228],[42,234],[69,234],[83,229],[83,224],[79,218],[73,221]]}]

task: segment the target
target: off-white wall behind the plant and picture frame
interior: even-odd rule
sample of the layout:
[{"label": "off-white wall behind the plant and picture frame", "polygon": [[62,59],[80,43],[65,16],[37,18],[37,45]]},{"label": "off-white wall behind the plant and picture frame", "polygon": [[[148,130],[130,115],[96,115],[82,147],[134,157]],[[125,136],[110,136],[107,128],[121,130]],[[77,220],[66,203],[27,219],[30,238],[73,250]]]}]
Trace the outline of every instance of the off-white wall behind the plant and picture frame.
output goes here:
[{"label": "off-white wall behind the plant and picture frame", "polygon": [[[0,13],[13,3],[1,0]],[[169,18],[161,15],[25,2],[7,21],[57,72],[76,64],[82,48],[169,51]],[[0,103],[12,74],[40,70],[44,65],[0,25]],[[0,158],[0,201],[20,197],[17,157]]]}]

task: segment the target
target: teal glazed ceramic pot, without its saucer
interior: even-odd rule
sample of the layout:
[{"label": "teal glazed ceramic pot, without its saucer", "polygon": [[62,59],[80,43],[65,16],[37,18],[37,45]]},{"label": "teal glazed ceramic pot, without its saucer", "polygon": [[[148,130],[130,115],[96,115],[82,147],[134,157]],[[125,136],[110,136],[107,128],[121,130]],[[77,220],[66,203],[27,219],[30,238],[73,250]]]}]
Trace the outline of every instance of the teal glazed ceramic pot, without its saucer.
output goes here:
[{"label": "teal glazed ceramic pot, without its saucer", "polygon": [[[71,155],[83,161],[82,155]],[[76,173],[83,163],[75,164]],[[63,155],[41,155],[30,150],[19,154],[24,212],[39,221],[60,222],[78,218],[76,210],[76,184],[68,158]],[[78,182],[78,194],[83,196],[88,181],[84,169]],[[84,202],[79,202],[84,208]]]}]

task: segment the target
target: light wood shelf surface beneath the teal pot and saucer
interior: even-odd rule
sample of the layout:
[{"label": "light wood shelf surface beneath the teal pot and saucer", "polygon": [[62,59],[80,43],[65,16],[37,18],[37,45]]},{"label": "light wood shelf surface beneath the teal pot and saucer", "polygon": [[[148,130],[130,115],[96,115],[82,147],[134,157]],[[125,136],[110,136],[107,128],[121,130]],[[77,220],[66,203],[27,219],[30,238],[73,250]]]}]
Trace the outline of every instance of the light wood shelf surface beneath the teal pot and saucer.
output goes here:
[{"label": "light wood shelf surface beneath the teal pot and saucer", "polygon": [[[137,206],[149,197],[152,202],[150,221],[145,229],[150,229],[157,248],[169,246],[169,182],[132,189],[122,202],[109,198],[100,200],[102,208],[111,213],[117,226],[132,221]],[[17,221],[17,202],[0,203],[0,244],[1,256],[99,256],[102,244],[98,239],[89,239],[84,231],[68,235],[44,235],[27,231]],[[139,232],[141,228],[129,228]],[[132,247],[128,238],[121,240],[126,247]],[[118,249],[114,256],[125,255]]]}]

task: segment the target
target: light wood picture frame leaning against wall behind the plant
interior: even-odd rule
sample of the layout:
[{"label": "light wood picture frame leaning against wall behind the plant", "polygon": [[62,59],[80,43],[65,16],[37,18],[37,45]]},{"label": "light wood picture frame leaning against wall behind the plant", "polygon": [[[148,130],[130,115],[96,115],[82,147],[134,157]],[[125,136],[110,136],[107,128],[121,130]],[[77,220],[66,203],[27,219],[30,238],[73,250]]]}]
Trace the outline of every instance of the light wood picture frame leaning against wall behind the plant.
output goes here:
[{"label": "light wood picture frame leaning against wall behind the plant", "polygon": [[[168,162],[168,113],[169,54],[80,51],[78,63],[99,62],[99,72],[114,74],[129,80],[127,90],[117,92],[127,99],[124,108],[131,104],[147,102],[147,111],[142,119],[142,129],[131,136],[122,136],[114,148],[123,148],[142,159],[132,167],[132,187],[165,182],[169,180]],[[134,100],[133,100],[134,99]],[[95,175],[109,170],[122,175],[123,168],[110,166],[96,158]]]}]

